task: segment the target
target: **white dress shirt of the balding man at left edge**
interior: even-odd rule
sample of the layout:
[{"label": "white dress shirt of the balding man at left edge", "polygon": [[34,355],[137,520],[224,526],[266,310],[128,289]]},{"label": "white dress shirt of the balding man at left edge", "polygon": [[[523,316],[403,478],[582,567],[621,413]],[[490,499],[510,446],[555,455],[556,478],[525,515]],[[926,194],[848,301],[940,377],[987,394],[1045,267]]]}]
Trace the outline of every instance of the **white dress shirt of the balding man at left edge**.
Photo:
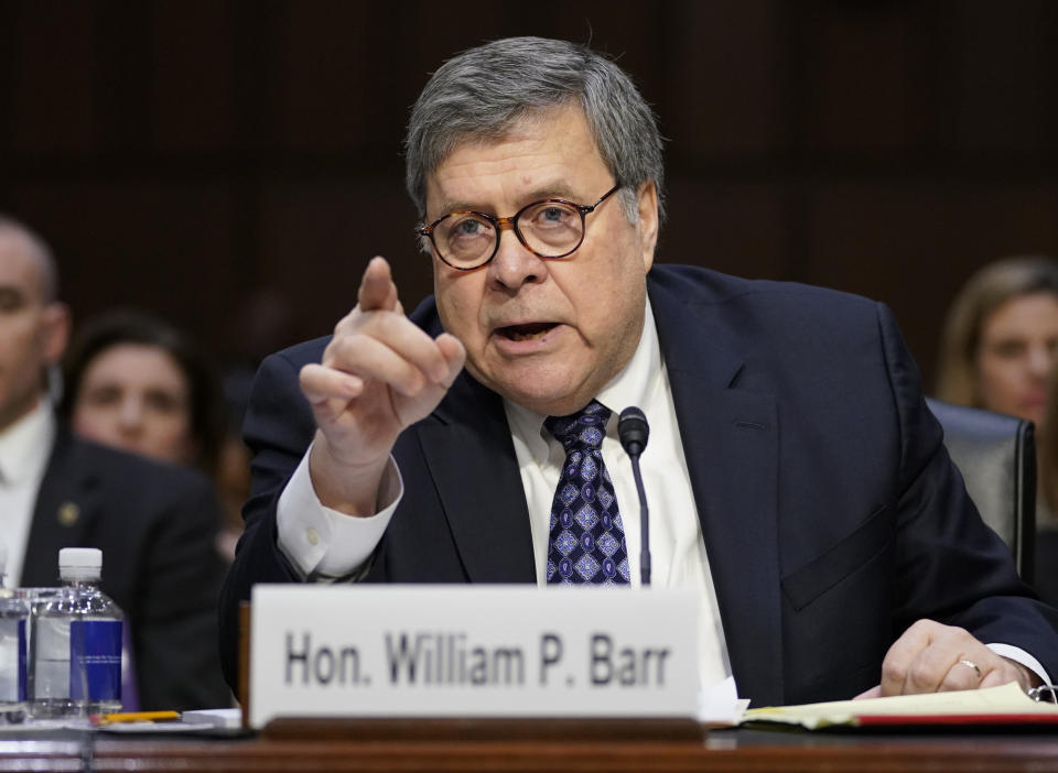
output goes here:
[{"label": "white dress shirt of the balding man at left edge", "polygon": [[54,440],[55,416],[46,400],[0,432],[0,540],[8,548],[3,578],[8,588],[18,587],[22,577],[36,496]]}]

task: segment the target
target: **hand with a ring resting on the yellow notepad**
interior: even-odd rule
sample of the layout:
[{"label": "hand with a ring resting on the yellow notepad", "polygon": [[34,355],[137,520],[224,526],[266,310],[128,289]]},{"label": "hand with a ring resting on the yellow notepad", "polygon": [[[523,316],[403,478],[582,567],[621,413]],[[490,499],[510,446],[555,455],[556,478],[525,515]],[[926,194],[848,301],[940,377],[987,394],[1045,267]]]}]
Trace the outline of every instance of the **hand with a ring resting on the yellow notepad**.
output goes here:
[{"label": "hand with a ring resting on the yellow notepad", "polygon": [[856,698],[997,687],[1017,682],[1028,690],[1039,679],[1001,657],[968,631],[919,620],[894,642],[882,662],[882,683]]}]

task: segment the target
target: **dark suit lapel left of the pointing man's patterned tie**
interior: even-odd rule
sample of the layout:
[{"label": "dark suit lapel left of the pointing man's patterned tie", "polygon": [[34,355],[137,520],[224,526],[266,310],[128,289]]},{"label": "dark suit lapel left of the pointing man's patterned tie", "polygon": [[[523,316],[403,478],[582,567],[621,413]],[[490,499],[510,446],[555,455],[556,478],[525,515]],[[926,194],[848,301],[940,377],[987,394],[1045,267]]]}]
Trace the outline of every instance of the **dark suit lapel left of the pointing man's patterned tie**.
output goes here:
[{"label": "dark suit lapel left of the pointing man's patterned tie", "polygon": [[472,583],[533,583],[529,508],[503,400],[466,371],[417,427]]}]

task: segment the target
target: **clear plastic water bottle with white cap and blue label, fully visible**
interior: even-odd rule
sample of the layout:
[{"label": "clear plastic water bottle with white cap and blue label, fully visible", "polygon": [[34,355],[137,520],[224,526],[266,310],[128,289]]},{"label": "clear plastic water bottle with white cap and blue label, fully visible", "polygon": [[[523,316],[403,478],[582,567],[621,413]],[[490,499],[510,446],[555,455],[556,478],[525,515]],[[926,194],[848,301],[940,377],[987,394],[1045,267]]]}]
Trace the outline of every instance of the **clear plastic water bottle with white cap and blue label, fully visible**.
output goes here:
[{"label": "clear plastic water bottle with white cap and blue label, fully visible", "polygon": [[101,590],[102,551],[58,552],[63,587],[34,605],[30,636],[30,714],[86,717],[121,710],[123,614]]}]

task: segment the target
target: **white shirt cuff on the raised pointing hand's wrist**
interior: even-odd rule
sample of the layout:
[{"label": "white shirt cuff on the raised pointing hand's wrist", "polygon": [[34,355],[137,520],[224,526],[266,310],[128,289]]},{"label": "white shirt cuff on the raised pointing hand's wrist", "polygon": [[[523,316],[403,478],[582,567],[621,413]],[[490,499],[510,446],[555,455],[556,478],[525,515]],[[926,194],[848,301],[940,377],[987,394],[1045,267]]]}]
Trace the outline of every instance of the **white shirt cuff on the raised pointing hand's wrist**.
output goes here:
[{"label": "white shirt cuff on the raised pointing hand's wrist", "polygon": [[379,483],[379,512],[355,516],[325,507],[316,496],[305,451],[279,497],[276,524],[279,549],[302,579],[346,577],[371,557],[404,494],[404,483],[389,457]]}]

